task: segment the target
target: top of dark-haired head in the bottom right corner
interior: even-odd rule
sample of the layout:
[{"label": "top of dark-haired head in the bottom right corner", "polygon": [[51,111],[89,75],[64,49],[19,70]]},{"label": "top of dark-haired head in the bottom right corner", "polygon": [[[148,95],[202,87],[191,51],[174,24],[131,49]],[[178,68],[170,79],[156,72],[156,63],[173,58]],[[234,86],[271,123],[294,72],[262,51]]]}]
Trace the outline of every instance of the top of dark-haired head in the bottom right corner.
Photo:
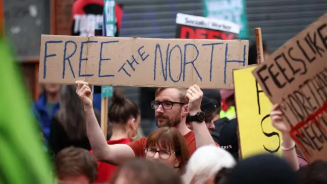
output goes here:
[{"label": "top of dark-haired head in the bottom right corner", "polygon": [[315,161],[297,171],[300,184],[320,184],[327,183],[327,162]]}]

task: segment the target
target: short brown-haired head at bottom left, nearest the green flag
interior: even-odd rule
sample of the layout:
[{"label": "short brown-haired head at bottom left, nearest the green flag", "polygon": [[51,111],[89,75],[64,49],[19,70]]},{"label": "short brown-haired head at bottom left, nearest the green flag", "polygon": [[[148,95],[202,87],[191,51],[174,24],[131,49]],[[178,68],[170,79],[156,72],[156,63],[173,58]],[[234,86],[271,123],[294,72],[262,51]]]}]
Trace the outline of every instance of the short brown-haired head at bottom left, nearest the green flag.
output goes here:
[{"label": "short brown-haired head at bottom left, nearest the green flag", "polygon": [[59,183],[89,184],[97,179],[96,158],[82,148],[68,147],[55,157],[55,171]]}]

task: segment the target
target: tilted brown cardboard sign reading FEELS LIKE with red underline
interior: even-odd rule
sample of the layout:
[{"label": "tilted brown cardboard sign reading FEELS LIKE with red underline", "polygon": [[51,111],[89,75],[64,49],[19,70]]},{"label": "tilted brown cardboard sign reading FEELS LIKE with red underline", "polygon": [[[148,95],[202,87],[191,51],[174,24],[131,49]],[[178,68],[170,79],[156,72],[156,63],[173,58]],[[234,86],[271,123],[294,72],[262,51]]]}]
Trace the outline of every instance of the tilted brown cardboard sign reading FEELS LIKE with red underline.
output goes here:
[{"label": "tilted brown cardboard sign reading FEELS LIKE with red underline", "polygon": [[253,71],[310,162],[327,160],[327,14]]}]

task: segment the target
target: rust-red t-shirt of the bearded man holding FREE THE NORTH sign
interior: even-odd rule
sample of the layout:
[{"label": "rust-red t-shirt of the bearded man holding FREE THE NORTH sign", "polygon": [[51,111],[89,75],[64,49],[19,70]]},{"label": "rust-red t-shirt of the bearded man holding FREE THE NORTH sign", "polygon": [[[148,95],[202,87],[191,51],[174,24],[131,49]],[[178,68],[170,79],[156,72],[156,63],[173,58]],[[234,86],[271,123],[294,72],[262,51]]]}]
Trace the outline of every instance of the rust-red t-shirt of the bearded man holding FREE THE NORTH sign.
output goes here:
[{"label": "rust-red t-shirt of the bearded man holding FREE THE NORTH sign", "polygon": [[[188,146],[188,150],[191,156],[196,150],[194,132],[190,131],[189,133],[186,133],[184,135],[184,139],[186,141],[186,145]],[[144,148],[147,145],[147,137],[142,137],[134,142],[128,143],[127,145],[132,148],[136,157],[145,157]],[[216,145],[218,146],[217,143]]]}]

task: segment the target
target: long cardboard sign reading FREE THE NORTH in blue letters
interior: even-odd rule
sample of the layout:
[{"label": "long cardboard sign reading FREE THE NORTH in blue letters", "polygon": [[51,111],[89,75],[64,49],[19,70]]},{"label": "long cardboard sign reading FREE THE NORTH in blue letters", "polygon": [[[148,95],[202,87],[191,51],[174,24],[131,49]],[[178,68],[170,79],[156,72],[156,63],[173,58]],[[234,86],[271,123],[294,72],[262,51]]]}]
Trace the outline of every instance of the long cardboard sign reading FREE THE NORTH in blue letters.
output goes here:
[{"label": "long cardboard sign reading FREE THE NORTH in blue letters", "polygon": [[40,83],[233,88],[248,40],[42,35]]}]

